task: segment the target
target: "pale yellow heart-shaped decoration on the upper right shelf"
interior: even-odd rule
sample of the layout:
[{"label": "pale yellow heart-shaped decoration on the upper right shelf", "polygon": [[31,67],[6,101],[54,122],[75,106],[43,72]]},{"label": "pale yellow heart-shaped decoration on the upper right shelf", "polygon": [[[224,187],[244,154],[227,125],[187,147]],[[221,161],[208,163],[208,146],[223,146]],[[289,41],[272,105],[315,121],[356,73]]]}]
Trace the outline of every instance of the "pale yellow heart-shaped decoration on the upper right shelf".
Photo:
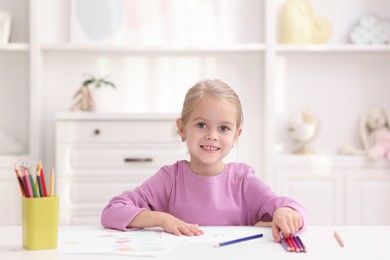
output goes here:
[{"label": "pale yellow heart-shaped decoration on the upper right shelf", "polygon": [[324,43],[332,34],[332,24],[314,15],[309,0],[287,0],[281,12],[281,42],[287,44]]}]

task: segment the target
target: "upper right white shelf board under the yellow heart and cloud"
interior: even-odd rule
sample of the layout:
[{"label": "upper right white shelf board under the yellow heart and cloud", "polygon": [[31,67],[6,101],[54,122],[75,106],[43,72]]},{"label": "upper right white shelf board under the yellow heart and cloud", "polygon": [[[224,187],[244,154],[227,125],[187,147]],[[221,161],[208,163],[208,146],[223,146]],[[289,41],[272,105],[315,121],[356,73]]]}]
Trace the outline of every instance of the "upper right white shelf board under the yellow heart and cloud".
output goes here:
[{"label": "upper right white shelf board under the yellow heart and cloud", "polygon": [[277,45],[278,53],[296,52],[390,52],[390,45],[354,45],[354,44],[310,44],[310,45]]}]

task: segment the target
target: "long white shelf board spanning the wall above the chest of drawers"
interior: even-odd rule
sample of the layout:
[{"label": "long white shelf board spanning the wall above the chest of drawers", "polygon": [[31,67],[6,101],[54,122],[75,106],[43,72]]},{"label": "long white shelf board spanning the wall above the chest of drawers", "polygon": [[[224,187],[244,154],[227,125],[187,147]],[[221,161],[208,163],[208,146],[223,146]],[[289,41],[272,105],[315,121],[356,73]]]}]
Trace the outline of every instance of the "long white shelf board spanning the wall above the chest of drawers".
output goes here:
[{"label": "long white shelf board spanning the wall above the chest of drawers", "polygon": [[196,53],[196,52],[260,52],[265,50],[265,44],[229,44],[219,46],[138,46],[138,45],[103,45],[103,44],[46,44],[45,51],[80,51],[80,52],[146,52],[146,53]]}]

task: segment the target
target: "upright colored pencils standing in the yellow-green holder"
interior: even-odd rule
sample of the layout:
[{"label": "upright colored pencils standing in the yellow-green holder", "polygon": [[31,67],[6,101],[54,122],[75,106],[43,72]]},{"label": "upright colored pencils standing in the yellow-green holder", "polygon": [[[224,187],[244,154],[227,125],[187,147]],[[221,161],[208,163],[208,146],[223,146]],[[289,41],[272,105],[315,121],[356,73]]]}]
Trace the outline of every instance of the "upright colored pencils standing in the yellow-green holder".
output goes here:
[{"label": "upright colored pencils standing in the yellow-green holder", "polygon": [[35,176],[30,172],[27,164],[22,164],[19,169],[15,163],[14,168],[20,191],[24,197],[40,198],[54,196],[54,169],[52,169],[50,173],[50,190],[48,192],[46,188],[45,172],[40,160],[38,161]]}]

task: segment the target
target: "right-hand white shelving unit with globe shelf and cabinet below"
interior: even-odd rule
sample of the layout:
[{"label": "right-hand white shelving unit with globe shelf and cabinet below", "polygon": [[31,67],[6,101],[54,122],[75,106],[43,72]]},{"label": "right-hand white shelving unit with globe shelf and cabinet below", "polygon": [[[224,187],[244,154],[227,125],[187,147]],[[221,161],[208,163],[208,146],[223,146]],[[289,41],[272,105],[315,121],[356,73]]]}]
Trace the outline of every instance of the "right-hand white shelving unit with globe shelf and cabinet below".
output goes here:
[{"label": "right-hand white shelving unit with globe shelf and cabinet below", "polygon": [[[390,211],[383,205],[390,195],[389,163],[337,151],[342,144],[361,147],[358,125],[365,111],[377,105],[390,111],[390,45],[347,40],[362,15],[388,18],[389,3],[343,1],[340,12],[334,12],[334,3],[311,2],[315,13],[333,24],[326,44],[282,45],[277,29],[268,35],[266,52],[271,53],[265,66],[272,77],[265,85],[266,179],[278,193],[306,206],[310,224],[388,225]],[[269,24],[278,28],[283,1],[268,3]],[[311,144],[314,156],[292,155],[294,144],[287,134],[291,115],[305,108],[320,118],[320,134]]]}]

